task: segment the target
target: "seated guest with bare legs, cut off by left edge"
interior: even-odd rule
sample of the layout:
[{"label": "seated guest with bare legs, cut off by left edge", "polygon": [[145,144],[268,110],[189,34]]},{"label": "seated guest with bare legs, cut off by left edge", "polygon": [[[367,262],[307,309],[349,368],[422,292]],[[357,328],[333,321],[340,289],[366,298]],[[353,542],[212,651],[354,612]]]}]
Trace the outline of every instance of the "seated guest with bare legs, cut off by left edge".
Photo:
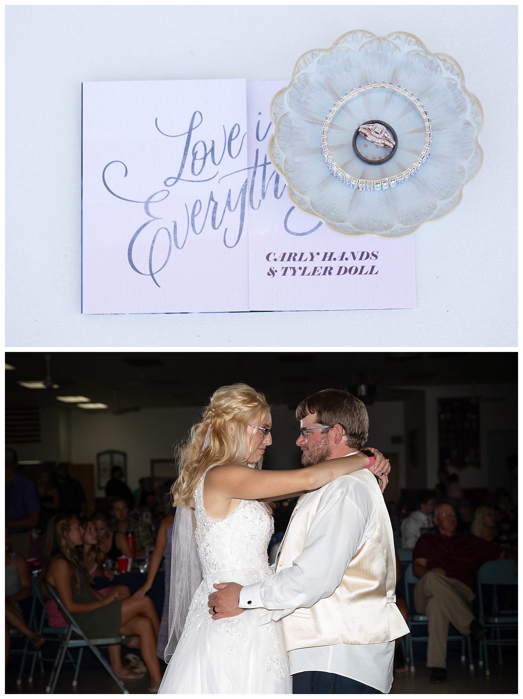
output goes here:
[{"label": "seated guest with bare legs, cut off by left edge", "polygon": [[46,639],[34,633],[27,626],[20,612],[19,602],[31,597],[31,580],[27,572],[27,564],[20,554],[11,549],[11,539],[6,527],[6,668],[11,646],[10,629],[15,628],[29,638],[31,646],[38,651]]}]

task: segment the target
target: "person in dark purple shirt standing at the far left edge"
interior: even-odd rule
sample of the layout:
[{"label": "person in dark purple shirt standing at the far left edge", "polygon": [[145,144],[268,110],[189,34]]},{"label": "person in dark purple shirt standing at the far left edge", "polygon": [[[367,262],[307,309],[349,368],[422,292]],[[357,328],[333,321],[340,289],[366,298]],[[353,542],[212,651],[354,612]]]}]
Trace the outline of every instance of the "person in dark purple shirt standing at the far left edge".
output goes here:
[{"label": "person in dark purple shirt standing at the far left edge", "polygon": [[17,466],[17,453],[6,447],[6,525],[13,549],[27,559],[31,545],[29,531],[40,521],[40,501],[36,485]]}]

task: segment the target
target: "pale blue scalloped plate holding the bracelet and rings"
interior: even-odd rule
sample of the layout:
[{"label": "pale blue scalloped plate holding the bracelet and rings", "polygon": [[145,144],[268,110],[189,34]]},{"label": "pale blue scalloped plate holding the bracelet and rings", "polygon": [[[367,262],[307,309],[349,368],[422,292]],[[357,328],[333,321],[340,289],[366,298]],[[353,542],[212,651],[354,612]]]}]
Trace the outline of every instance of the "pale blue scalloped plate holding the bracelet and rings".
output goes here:
[{"label": "pale blue scalloped plate holding the bracelet and rings", "polygon": [[[345,92],[369,82],[394,82],[420,99],[432,123],[431,154],[415,177],[394,189],[359,191],[335,178],[322,156],[325,117]],[[465,89],[463,71],[445,54],[432,54],[417,37],[397,31],[385,37],[368,31],[343,34],[331,48],[303,54],[289,85],[271,103],[274,132],[268,154],[287,182],[299,210],[345,236],[394,238],[435,221],[461,201],[463,187],[478,173],[483,152],[478,136],[483,110]],[[354,155],[352,136],[362,122],[382,120],[398,137],[394,157],[366,165]],[[424,145],[424,124],[415,107],[398,94],[373,89],[336,113],[329,148],[354,177],[392,177],[412,165]],[[366,142],[372,159],[382,148]]]}]

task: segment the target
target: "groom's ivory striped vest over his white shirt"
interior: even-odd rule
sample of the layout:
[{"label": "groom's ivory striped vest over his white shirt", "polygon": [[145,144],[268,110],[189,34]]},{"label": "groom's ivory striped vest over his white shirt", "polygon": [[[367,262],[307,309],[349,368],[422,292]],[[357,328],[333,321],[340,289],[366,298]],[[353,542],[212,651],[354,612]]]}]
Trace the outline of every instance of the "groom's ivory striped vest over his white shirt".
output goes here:
[{"label": "groom's ivory striped vest over his white shirt", "polygon": [[[392,641],[408,633],[396,602],[396,557],[389,514],[375,477],[359,470],[341,478],[355,478],[375,501],[376,527],[371,538],[354,552],[341,583],[330,597],[310,608],[300,607],[282,619],[285,650],[347,643],[366,645]],[[339,479],[341,480],[341,479]],[[301,496],[276,559],[275,571],[291,568],[305,546],[324,486]],[[350,521],[340,522],[349,527]]]}]

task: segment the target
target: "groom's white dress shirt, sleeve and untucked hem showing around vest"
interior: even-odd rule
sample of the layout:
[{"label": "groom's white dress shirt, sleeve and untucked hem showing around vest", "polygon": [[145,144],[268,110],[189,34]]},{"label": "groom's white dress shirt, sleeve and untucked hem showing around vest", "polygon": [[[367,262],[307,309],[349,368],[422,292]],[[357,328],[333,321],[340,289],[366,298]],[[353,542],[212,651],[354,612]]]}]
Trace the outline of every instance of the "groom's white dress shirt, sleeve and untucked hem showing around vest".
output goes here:
[{"label": "groom's white dress shirt, sleeve and untucked hem showing around vest", "polygon": [[[263,624],[331,596],[354,552],[373,535],[375,526],[375,502],[368,488],[352,478],[334,480],[322,494],[303,552],[294,559],[292,568],[243,587],[239,606],[271,610],[260,615]],[[289,651],[288,656],[291,675],[307,670],[333,672],[383,693],[392,685],[394,641],[299,648]]]}]

